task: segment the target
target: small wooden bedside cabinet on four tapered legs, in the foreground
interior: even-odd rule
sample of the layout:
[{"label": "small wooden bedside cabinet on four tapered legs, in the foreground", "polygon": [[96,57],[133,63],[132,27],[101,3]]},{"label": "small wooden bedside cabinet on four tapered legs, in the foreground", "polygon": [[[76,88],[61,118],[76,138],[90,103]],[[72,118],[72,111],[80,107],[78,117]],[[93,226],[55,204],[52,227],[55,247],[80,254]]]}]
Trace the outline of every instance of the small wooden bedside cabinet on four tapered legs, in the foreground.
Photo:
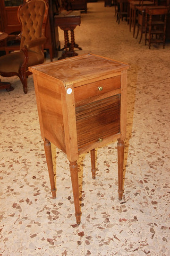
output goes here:
[{"label": "small wooden bedside cabinet on four tapered legs, in the foreground", "polygon": [[77,224],[80,223],[77,159],[90,150],[95,179],[95,147],[118,139],[119,200],[123,194],[128,64],[86,54],[29,67],[34,86],[44,149],[56,198],[51,142],[66,153]]}]

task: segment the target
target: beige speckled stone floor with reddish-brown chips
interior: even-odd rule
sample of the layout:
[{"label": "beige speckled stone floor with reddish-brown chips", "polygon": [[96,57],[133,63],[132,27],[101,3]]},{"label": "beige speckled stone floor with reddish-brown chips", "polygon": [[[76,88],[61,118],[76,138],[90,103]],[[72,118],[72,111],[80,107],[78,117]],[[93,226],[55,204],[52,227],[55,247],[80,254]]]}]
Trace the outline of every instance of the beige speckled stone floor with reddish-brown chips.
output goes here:
[{"label": "beige speckled stone floor with reddish-brown chips", "polygon": [[[133,38],[114,7],[87,4],[76,27],[79,54],[131,65],[123,201],[118,200],[117,142],[79,157],[81,224],[76,225],[64,153],[52,145],[57,198],[40,135],[33,77],[24,94],[0,91],[0,256],[170,256],[170,43],[151,49]],[[63,32],[59,30],[61,47]],[[59,53],[61,55],[61,53]],[[46,62],[49,61],[49,55]]]}]

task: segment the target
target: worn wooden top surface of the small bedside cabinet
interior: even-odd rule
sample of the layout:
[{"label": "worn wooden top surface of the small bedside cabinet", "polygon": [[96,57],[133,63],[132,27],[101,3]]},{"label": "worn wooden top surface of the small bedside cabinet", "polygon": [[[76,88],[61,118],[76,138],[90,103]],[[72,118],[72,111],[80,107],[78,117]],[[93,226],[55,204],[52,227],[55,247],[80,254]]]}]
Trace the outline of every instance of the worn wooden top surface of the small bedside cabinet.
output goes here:
[{"label": "worn wooden top surface of the small bedside cabinet", "polygon": [[74,84],[100,76],[118,73],[129,69],[126,63],[104,58],[98,55],[78,55],[47,64],[29,67],[32,73],[54,77],[64,85]]}]

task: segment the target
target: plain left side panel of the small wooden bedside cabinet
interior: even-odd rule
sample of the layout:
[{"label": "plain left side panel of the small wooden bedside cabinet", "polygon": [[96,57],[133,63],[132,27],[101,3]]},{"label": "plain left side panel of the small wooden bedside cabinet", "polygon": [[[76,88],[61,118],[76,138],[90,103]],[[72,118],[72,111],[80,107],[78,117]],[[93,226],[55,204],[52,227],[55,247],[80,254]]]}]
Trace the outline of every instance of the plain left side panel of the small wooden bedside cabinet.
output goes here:
[{"label": "plain left side panel of the small wooden bedside cabinet", "polygon": [[53,78],[38,75],[37,94],[43,138],[66,152],[60,85]]}]

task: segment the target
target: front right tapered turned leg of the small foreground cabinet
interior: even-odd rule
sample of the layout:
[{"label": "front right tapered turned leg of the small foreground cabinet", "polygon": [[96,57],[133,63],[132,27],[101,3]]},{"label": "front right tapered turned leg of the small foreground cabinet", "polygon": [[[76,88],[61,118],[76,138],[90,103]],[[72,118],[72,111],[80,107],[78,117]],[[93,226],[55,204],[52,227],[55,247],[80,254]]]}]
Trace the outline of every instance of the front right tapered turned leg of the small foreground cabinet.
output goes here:
[{"label": "front right tapered turned leg of the small foreground cabinet", "polygon": [[118,139],[118,193],[119,200],[123,196],[123,160],[124,160],[124,141]]}]

